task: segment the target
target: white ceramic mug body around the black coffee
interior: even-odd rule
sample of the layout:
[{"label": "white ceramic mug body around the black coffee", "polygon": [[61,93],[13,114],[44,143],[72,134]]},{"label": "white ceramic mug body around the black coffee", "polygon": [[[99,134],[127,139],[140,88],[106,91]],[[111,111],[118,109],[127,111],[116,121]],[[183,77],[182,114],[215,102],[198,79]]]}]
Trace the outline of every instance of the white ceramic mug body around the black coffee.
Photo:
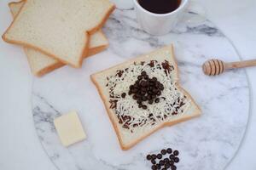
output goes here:
[{"label": "white ceramic mug body around the black coffee", "polygon": [[154,36],[167,34],[176,26],[188,7],[189,0],[181,0],[179,7],[167,14],[154,14],[144,9],[137,0],[134,1],[134,6],[137,14],[137,20],[144,31]]}]

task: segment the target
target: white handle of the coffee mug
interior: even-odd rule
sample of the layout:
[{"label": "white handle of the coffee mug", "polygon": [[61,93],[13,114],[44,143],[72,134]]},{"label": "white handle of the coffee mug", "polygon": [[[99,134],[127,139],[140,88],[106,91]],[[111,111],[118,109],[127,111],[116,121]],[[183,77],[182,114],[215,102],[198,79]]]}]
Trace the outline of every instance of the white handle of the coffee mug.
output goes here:
[{"label": "white handle of the coffee mug", "polygon": [[195,0],[189,0],[187,13],[189,13],[189,16],[185,18],[185,21],[189,25],[199,25],[207,20],[206,9],[196,3]]}]

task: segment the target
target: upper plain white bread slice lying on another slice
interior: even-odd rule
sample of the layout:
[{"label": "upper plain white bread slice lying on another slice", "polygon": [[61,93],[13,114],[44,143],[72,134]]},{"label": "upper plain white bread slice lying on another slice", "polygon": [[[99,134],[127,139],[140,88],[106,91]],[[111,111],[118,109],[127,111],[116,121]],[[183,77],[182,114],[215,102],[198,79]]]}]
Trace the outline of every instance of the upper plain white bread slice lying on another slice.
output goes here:
[{"label": "upper plain white bread slice lying on another slice", "polygon": [[89,33],[102,27],[113,8],[108,0],[26,0],[3,40],[80,67]]}]

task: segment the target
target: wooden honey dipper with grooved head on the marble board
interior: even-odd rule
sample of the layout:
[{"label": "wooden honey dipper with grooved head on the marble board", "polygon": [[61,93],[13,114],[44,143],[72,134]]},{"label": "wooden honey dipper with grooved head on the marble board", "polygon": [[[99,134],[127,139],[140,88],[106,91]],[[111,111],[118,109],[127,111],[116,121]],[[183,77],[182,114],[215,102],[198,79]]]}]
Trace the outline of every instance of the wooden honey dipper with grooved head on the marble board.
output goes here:
[{"label": "wooden honey dipper with grooved head on the marble board", "polygon": [[202,69],[207,76],[216,76],[229,69],[256,66],[256,59],[224,63],[219,59],[209,59],[203,65]]}]

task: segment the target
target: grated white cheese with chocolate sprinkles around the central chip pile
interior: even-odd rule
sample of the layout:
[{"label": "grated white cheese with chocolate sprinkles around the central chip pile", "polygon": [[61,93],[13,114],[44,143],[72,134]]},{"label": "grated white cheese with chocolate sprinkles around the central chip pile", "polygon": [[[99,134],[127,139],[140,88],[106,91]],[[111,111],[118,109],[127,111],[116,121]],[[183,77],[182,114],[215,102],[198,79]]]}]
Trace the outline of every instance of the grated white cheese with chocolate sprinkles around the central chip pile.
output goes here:
[{"label": "grated white cheese with chocolate sprinkles around the central chip pile", "polygon": [[[166,122],[172,120],[175,116],[180,116],[189,107],[189,100],[184,94],[177,90],[175,80],[172,79],[168,71],[161,65],[162,62],[167,61],[154,61],[154,66],[148,65],[150,61],[137,62],[134,65],[130,65],[128,68],[121,70],[122,73],[117,71],[116,75],[108,77],[108,90],[110,93],[110,99],[116,99],[116,107],[113,111],[116,116],[119,117],[127,133],[134,133],[142,131],[144,127],[156,126],[160,122]],[[172,71],[174,67],[172,66]],[[137,101],[132,99],[132,95],[128,95],[129,87],[137,81],[137,76],[141,75],[142,71],[146,71],[150,78],[156,77],[159,82],[164,85],[164,90],[160,95],[160,102],[148,105],[147,110],[138,108]],[[125,93],[125,98],[121,98],[121,94]],[[183,101],[180,106],[177,101]],[[145,103],[148,103],[147,101]],[[176,112],[176,115],[172,115],[172,112]],[[152,116],[150,116],[152,115]],[[124,116],[130,116],[131,119],[124,119]],[[150,117],[149,117],[150,116]],[[128,127],[125,127],[128,124]]]}]

